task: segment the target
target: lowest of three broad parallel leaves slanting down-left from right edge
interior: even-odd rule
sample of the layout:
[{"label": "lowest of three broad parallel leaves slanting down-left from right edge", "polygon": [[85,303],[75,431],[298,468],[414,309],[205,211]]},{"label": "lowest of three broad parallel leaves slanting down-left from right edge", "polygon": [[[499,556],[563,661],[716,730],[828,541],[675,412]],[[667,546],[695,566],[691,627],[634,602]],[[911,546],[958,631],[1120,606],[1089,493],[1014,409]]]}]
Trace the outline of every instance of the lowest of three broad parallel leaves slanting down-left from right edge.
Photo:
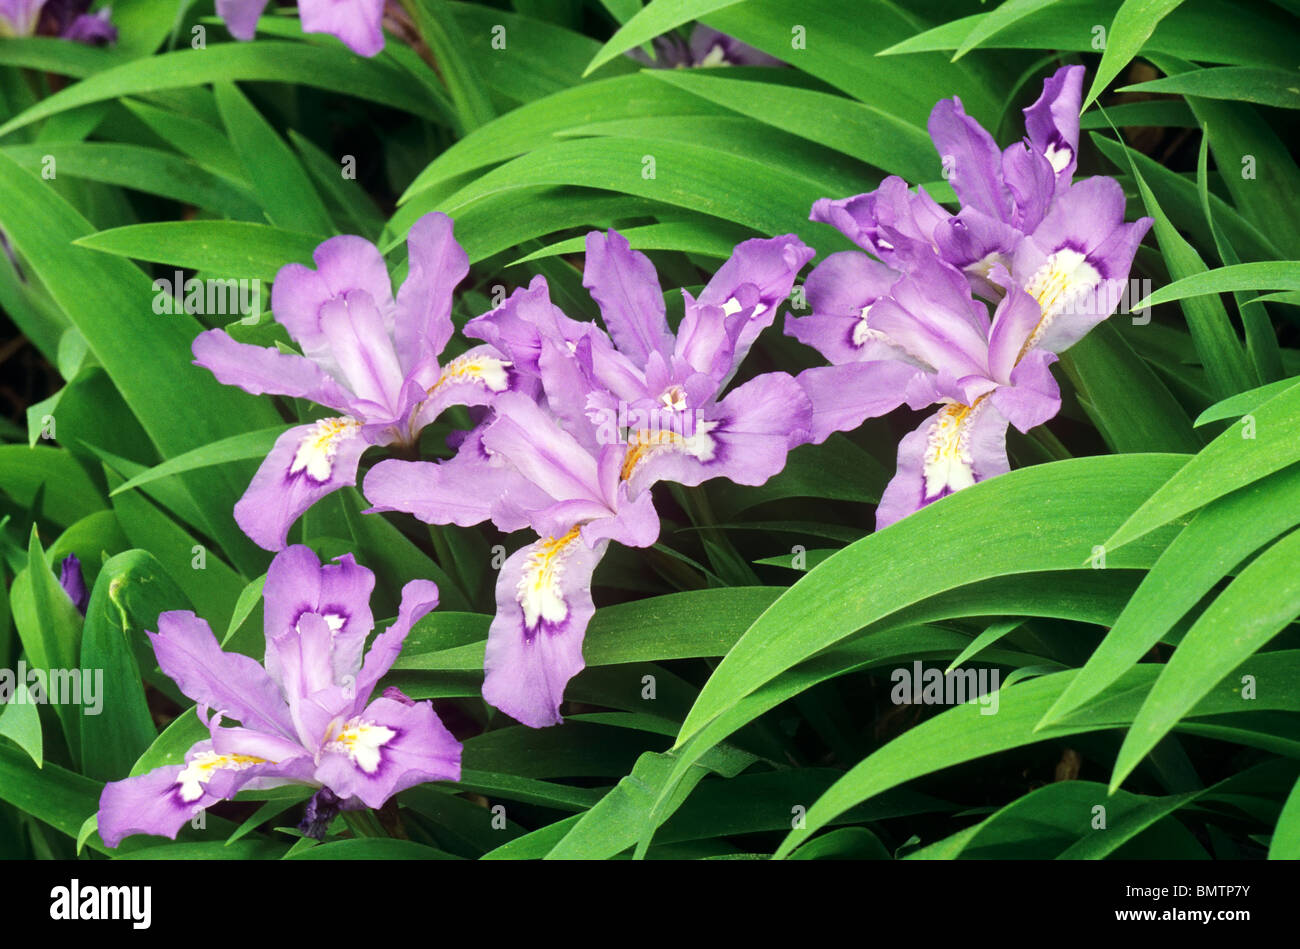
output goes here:
[{"label": "lowest of three broad parallel leaves slanting down-left from right edge", "polygon": [[1124,736],[1112,789],[1234,667],[1249,673],[1247,659],[1300,616],[1297,563],[1300,533],[1291,533],[1247,566],[1187,630]]}]

